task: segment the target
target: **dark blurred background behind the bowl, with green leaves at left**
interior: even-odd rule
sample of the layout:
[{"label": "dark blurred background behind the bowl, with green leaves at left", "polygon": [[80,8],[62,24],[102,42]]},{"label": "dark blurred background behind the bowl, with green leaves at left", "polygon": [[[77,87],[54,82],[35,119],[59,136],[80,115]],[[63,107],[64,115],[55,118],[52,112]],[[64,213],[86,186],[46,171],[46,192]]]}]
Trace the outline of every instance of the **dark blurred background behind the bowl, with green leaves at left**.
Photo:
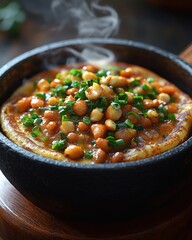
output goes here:
[{"label": "dark blurred background behind the bowl, with green leaves at left", "polygon": [[[93,1],[85,0],[86,6],[81,5],[82,0],[65,1],[67,5],[63,5],[62,1],[65,0],[0,1],[0,66],[34,47],[79,37],[74,24],[80,20],[70,19],[68,9],[72,8],[76,15],[80,14],[81,6],[91,11]],[[112,17],[115,12],[119,16],[118,31],[112,31],[110,37],[152,44],[175,54],[192,41],[191,0],[101,0],[99,4],[110,6]],[[107,8],[102,14],[105,15],[106,11]],[[98,12],[97,8],[99,16]],[[91,17],[92,13],[89,14]],[[83,20],[88,19],[89,22],[86,16],[87,12],[81,13]],[[105,21],[102,24],[105,25]],[[102,24],[93,37],[99,36]]]}]

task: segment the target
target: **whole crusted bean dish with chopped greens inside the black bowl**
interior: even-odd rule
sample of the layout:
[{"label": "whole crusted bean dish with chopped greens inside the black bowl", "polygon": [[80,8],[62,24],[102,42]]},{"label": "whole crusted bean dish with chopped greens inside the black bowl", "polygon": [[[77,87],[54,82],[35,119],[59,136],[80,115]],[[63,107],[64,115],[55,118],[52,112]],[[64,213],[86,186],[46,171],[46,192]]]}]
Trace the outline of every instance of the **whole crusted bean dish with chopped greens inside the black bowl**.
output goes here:
[{"label": "whole crusted bean dish with chopped greens inside the black bowl", "polygon": [[55,160],[135,161],[189,137],[192,100],[140,66],[63,66],[16,90],[2,106],[1,125],[16,144]]}]

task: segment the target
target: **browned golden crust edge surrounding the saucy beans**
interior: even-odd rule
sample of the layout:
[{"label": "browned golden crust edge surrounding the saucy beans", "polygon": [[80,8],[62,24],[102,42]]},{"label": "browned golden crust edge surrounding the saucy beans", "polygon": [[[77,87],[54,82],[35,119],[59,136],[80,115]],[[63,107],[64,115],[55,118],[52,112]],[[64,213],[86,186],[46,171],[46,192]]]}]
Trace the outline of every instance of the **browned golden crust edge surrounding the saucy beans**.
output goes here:
[{"label": "browned golden crust edge surrounding the saucy beans", "polygon": [[[146,69],[140,67],[135,67],[135,69],[142,70],[142,73],[146,72],[151,76],[154,76],[158,79],[158,81],[167,82],[165,79],[160,78],[158,75],[151,73]],[[19,123],[17,116],[13,114],[13,111],[11,111],[16,96],[23,92],[23,89],[24,87],[17,91],[17,93],[15,93],[11,99],[2,106],[1,127],[4,134],[17,145],[31,152],[47,158],[68,161],[62,153],[55,152],[52,149],[46,149],[44,148],[42,142],[32,138],[31,135],[25,131],[23,125]],[[179,109],[176,114],[177,122],[169,136],[156,143],[128,149],[125,152],[125,161],[135,161],[161,154],[178,146],[189,137],[192,128],[192,101],[191,98],[182,91],[179,91],[178,106]],[[83,160],[80,160],[79,162],[83,162]]]}]

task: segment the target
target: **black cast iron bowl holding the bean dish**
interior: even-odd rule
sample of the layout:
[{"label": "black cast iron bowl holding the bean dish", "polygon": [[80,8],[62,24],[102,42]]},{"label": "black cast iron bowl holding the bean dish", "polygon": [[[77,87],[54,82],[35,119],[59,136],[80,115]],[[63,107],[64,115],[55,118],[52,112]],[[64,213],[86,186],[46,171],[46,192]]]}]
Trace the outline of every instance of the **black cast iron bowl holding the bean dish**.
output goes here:
[{"label": "black cast iron bowl holding the bean dish", "polygon": [[[118,39],[77,39],[27,52],[0,69],[1,103],[22,79],[65,64],[87,45],[111,50],[116,61],[146,67],[192,96],[192,69],[177,56],[153,46]],[[76,58],[76,61],[81,59]],[[0,132],[0,168],[30,201],[77,219],[126,218],[159,207],[191,183],[192,137],[155,157],[127,163],[84,165],[31,153]]]}]

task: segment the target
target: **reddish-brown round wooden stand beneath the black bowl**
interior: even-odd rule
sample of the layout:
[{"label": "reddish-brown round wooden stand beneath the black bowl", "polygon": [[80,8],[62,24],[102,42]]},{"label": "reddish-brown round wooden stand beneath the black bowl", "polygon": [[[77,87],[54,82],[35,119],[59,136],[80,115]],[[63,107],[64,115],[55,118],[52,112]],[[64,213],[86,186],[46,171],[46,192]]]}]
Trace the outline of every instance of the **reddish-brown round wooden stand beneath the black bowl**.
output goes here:
[{"label": "reddish-brown round wooden stand beneath the black bowl", "polygon": [[110,224],[66,221],[24,198],[0,172],[3,240],[191,240],[192,188],[149,216]]}]

